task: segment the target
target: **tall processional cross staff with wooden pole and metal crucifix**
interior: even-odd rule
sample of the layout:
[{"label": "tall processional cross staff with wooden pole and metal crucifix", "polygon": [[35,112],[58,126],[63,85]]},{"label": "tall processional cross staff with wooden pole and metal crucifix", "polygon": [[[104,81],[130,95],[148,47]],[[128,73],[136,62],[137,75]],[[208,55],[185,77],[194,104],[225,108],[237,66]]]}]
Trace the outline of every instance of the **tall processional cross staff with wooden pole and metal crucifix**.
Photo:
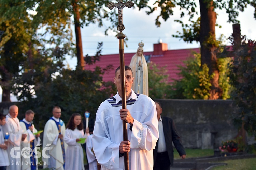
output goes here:
[{"label": "tall processional cross staff with wooden pole and metal crucifix", "polygon": [[[120,55],[120,73],[121,73],[121,86],[122,86],[122,108],[126,109],[126,94],[125,94],[125,56],[124,56],[124,38],[125,35],[122,31],[125,29],[123,25],[123,8],[126,6],[131,8],[134,5],[131,1],[123,3],[122,0],[118,0],[118,3],[109,2],[106,7],[112,10],[114,7],[118,8],[118,26],[117,30],[119,31],[116,36],[119,39],[119,55]],[[124,141],[128,141],[127,137],[127,123],[123,120],[123,137]],[[124,153],[125,159],[125,170],[129,170],[129,157],[128,152]]]}]

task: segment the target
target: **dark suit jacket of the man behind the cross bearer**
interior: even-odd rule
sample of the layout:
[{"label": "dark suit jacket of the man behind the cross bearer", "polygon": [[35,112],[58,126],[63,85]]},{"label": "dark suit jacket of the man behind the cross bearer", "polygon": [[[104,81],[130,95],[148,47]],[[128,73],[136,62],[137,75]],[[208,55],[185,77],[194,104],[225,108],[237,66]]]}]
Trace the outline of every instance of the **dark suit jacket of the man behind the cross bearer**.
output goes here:
[{"label": "dark suit jacket of the man behind the cross bearer", "polygon": [[[168,117],[162,117],[163,122],[163,133],[165,134],[165,143],[166,143],[166,149],[169,155],[169,160],[171,165],[173,165],[173,147],[172,142],[181,155],[186,155],[186,152],[184,150],[184,147],[181,144],[181,138],[177,133],[174,121],[171,118]],[[156,161],[157,156],[157,148],[158,148],[158,141],[156,142],[156,148],[153,150],[154,154],[154,163]]]}]

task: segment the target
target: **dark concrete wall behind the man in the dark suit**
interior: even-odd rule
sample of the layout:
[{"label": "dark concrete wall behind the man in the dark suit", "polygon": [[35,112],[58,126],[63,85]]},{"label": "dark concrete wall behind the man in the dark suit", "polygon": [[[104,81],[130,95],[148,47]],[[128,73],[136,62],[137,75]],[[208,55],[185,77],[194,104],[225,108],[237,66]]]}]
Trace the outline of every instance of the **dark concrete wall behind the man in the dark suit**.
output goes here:
[{"label": "dark concrete wall behind the man in the dark suit", "polygon": [[238,134],[232,123],[237,114],[232,100],[156,99],[162,105],[162,116],[174,120],[186,148],[216,148]]}]

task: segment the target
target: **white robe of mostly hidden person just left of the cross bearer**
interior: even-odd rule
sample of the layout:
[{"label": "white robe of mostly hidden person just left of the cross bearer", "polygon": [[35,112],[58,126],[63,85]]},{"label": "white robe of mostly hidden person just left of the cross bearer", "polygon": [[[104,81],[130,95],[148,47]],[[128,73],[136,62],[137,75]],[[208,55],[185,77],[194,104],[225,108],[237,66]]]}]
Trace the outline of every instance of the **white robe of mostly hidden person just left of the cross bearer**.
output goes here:
[{"label": "white robe of mostly hidden person just left of the cross bearer", "polygon": [[89,164],[89,170],[98,170],[96,157],[91,150],[93,148],[93,135],[89,135],[86,141],[86,157]]}]

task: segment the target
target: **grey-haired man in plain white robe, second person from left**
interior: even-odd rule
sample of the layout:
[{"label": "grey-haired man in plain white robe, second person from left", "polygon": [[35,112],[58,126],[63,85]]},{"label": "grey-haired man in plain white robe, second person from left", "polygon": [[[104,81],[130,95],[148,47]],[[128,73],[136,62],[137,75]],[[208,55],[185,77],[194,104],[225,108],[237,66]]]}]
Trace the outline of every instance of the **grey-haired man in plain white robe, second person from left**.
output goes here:
[{"label": "grey-haired man in plain white robe, second person from left", "polygon": [[[21,157],[13,157],[12,155],[19,155],[20,150],[14,147],[20,147],[21,141],[24,141],[27,134],[23,134],[23,129],[20,127],[19,119],[17,118],[19,114],[19,108],[16,105],[9,107],[9,113],[6,116],[6,123],[3,126],[4,133],[8,133],[10,136],[8,138],[7,153],[9,156],[10,165],[7,169],[21,169]],[[14,148],[14,149],[13,149]]]}]

